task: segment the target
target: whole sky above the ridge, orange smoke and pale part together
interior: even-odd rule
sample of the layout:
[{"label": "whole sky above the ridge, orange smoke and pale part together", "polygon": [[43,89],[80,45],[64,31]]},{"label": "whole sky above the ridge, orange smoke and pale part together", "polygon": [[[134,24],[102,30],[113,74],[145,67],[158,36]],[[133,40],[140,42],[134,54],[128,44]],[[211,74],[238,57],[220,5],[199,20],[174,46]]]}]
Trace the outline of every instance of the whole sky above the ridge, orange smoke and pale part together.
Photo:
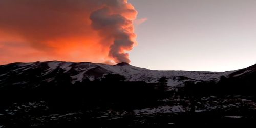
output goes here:
[{"label": "whole sky above the ridge, orange smoke and pale part together", "polygon": [[241,69],[256,63],[255,7],[254,0],[1,0],[0,65]]}]

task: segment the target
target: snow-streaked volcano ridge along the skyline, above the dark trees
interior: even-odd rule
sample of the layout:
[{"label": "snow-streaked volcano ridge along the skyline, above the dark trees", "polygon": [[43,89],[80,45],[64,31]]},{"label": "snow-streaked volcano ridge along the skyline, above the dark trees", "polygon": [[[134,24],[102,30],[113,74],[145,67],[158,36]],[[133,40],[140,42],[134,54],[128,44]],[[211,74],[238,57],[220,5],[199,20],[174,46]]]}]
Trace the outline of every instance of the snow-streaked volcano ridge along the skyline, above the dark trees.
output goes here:
[{"label": "snow-streaked volcano ridge along the skyline, above the dark trees", "polygon": [[168,79],[168,87],[182,86],[186,81],[218,81],[221,76],[236,77],[255,71],[254,67],[227,72],[197,72],[197,71],[157,71],[119,63],[105,65],[91,62],[32,62],[11,63],[0,66],[0,86],[36,87],[41,82],[55,82],[65,78],[66,82],[75,84],[84,80],[101,79],[106,74],[119,74],[127,81],[144,81],[156,83],[159,78]]}]

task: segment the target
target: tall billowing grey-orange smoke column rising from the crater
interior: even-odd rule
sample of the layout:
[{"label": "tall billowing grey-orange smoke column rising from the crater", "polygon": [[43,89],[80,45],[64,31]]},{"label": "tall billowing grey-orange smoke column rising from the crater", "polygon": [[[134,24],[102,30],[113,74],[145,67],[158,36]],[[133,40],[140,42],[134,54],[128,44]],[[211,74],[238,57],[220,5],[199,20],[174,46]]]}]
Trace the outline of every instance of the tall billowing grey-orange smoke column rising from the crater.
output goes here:
[{"label": "tall billowing grey-orange smoke column rising from the crater", "polygon": [[101,44],[110,46],[109,57],[116,63],[130,63],[129,54],[136,44],[133,20],[137,11],[126,0],[105,1],[104,6],[91,13],[92,28],[103,37]]}]

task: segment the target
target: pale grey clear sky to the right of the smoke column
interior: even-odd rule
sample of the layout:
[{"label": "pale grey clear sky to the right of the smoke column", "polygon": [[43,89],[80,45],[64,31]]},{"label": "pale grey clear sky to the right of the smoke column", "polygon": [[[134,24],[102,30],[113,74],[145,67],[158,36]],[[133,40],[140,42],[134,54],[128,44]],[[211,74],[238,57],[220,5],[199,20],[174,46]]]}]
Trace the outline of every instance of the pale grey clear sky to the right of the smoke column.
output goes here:
[{"label": "pale grey clear sky to the right of the smoke column", "polygon": [[153,70],[227,71],[256,63],[254,0],[129,0],[138,11],[131,64]]}]

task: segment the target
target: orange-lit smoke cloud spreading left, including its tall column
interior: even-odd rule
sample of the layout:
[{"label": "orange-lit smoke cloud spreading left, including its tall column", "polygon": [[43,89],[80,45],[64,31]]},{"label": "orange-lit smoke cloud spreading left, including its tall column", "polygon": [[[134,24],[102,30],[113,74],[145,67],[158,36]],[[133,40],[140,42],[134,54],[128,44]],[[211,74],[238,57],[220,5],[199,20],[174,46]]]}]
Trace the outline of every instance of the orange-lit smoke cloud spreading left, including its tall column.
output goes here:
[{"label": "orange-lit smoke cloud spreading left, including its tall column", "polygon": [[0,60],[130,62],[136,16],[126,0],[1,0]]}]

